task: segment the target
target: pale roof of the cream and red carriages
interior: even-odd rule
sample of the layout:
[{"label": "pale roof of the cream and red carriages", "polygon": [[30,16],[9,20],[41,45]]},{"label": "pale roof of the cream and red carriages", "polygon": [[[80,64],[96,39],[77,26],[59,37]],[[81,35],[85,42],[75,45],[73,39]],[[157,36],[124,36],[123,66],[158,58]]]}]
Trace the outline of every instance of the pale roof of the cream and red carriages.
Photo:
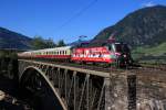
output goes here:
[{"label": "pale roof of the cream and red carriages", "polygon": [[44,48],[44,50],[37,50],[37,51],[29,51],[29,52],[48,52],[48,51],[65,51],[70,50],[71,46],[61,46],[61,47],[53,47],[53,48]]}]

